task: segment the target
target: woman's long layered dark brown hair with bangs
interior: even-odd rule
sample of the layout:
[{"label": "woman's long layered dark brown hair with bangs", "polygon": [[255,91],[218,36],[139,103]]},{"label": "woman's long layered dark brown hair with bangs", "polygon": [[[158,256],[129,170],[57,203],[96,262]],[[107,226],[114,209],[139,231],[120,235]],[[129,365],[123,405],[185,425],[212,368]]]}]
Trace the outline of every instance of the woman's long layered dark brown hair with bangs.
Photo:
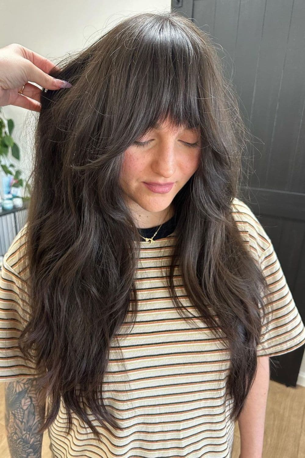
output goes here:
[{"label": "woman's long layered dark brown hair with bangs", "polygon": [[122,159],[168,116],[201,135],[198,169],[173,200],[168,287],[191,322],[175,291],[179,266],[191,304],[230,350],[227,396],[236,421],[257,371],[268,285],[232,216],[251,134],[216,47],[175,11],[144,13],[58,65],[50,74],[72,87],[42,93],[24,257],[30,319],[19,341],[49,396],[41,431],[60,398],[68,433],[74,412],[100,438],[86,408],[104,427],[121,429],[100,395],[111,339],[129,306],[132,322],[137,312],[141,238],[120,187]]}]

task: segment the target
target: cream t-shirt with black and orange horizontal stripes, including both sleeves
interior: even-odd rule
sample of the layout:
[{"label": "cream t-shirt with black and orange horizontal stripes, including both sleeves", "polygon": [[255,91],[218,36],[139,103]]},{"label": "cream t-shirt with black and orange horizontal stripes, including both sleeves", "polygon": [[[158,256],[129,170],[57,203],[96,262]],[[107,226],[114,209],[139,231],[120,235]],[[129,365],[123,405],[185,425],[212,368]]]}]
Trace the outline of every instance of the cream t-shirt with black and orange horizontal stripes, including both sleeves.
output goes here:
[{"label": "cream t-shirt with black and orange horizontal stripes, including both sleeves", "polygon": [[[257,355],[279,355],[305,344],[305,327],[289,290],[268,235],[245,202],[235,199],[232,213],[242,238],[260,263],[272,288],[266,301],[272,319],[263,327]],[[21,259],[26,225],[4,256],[0,276],[0,379],[33,376],[35,369],[17,345],[26,319],[20,298]],[[90,416],[102,433],[98,442],[91,430],[72,413],[73,428],[65,436],[67,414],[61,402],[48,434],[56,458],[163,458],[230,457],[235,424],[225,400],[230,354],[209,327],[194,318],[191,327],[173,305],[164,273],[175,245],[175,230],[149,243],[141,242],[135,285],[139,299],[136,322],[129,334],[123,325],[117,334],[124,360],[113,344],[103,386],[107,409],[123,426],[107,432]],[[182,278],[176,277],[180,300],[195,316]],[[127,327],[130,326],[128,316]],[[122,337],[120,338],[120,335]]]}]

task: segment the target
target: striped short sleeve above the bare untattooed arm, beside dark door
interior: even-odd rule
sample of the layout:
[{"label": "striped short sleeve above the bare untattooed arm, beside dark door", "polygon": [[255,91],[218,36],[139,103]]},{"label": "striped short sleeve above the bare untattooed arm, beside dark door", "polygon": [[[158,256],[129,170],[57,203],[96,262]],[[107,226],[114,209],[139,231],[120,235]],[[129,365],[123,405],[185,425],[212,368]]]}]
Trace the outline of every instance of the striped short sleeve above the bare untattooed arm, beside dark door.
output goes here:
[{"label": "striped short sleeve above the bare untattooed arm, beside dark door", "polygon": [[304,345],[305,327],[272,242],[262,226],[259,232],[269,243],[259,261],[272,294],[264,298],[266,318],[257,346],[257,356],[275,356],[289,353]]}]

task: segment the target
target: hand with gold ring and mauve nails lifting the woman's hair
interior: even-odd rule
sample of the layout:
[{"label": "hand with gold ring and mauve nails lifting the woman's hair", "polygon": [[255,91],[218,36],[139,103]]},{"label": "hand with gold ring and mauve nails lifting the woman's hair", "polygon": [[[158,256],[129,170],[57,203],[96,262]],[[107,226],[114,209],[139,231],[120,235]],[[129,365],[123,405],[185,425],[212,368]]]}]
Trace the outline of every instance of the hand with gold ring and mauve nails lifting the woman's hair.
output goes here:
[{"label": "hand with gold ring and mauve nails lifting the woman's hair", "polygon": [[15,105],[40,111],[41,89],[28,81],[53,91],[72,86],[48,75],[54,67],[57,68],[46,57],[21,44],[12,43],[0,48],[0,106]]}]

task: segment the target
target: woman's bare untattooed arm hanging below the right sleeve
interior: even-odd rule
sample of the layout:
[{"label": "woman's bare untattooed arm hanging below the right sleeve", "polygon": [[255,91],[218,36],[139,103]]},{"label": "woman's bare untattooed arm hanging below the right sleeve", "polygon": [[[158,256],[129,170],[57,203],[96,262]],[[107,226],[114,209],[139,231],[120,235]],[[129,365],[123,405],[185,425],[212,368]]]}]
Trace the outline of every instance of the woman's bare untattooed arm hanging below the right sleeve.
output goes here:
[{"label": "woman's bare untattooed arm hanging below the right sleeve", "polygon": [[257,364],[257,374],[238,419],[241,437],[240,458],[262,458],[270,378],[269,357],[259,356]]}]

